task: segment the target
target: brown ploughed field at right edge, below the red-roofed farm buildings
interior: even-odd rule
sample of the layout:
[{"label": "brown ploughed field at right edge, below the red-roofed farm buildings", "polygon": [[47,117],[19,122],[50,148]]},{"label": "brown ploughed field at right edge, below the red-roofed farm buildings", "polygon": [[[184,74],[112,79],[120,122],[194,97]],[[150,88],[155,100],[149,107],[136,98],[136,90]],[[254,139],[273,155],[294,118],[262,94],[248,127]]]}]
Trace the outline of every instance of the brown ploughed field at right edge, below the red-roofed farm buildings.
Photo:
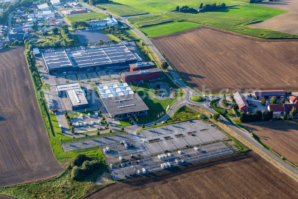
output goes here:
[{"label": "brown ploughed field at right edge, below the red-roofed farm buildings", "polygon": [[254,122],[244,124],[271,149],[298,165],[298,121]]}]

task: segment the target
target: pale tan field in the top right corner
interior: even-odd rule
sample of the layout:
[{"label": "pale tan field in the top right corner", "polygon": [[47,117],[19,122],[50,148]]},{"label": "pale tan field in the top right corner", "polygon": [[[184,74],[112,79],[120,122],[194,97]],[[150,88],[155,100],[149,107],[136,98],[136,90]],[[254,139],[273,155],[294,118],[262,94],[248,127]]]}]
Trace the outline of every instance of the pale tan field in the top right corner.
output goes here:
[{"label": "pale tan field in the top right corner", "polygon": [[281,10],[289,10],[298,12],[298,1],[297,0],[283,0],[283,1],[266,1],[266,2],[260,2],[256,3],[259,5],[277,8]]}]

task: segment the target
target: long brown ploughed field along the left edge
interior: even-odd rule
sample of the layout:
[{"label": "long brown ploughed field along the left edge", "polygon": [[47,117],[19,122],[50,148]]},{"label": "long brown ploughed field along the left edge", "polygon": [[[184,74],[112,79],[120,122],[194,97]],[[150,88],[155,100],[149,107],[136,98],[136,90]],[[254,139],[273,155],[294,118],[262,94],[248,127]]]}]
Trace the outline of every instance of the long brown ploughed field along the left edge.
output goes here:
[{"label": "long brown ploughed field along the left edge", "polygon": [[24,49],[0,52],[0,186],[63,171],[49,143]]}]

